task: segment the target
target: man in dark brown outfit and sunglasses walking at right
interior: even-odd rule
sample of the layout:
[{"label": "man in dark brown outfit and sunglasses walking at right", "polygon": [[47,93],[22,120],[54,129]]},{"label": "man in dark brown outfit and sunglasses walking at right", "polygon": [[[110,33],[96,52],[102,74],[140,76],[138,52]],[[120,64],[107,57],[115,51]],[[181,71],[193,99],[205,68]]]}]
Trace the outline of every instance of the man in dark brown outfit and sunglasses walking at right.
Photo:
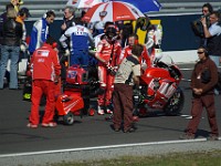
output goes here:
[{"label": "man in dark brown outfit and sunglasses walking at right", "polygon": [[215,107],[214,107],[214,93],[213,89],[218,83],[218,68],[213,61],[210,60],[206,48],[198,49],[199,62],[194,65],[191,75],[192,89],[192,108],[191,116],[186,134],[181,135],[181,139],[192,139],[196,136],[198,125],[200,123],[203,107],[207,110],[209,124],[211,127],[211,135],[209,141],[217,141],[219,136]]}]

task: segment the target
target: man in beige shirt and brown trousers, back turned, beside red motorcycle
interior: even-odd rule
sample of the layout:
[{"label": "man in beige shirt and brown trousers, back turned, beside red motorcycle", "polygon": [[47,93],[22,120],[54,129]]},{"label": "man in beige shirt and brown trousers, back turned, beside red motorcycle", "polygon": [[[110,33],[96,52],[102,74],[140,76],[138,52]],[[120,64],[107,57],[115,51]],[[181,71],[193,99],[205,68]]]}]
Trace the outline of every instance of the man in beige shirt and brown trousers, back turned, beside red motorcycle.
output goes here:
[{"label": "man in beige shirt and brown trousers, back turned, beside red motorcycle", "polygon": [[131,55],[123,60],[115,75],[113,93],[115,132],[120,129],[123,121],[125,133],[135,131],[133,127],[133,85],[139,85],[139,56],[143,51],[144,46],[141,44],[135,44],[131,49]]}]

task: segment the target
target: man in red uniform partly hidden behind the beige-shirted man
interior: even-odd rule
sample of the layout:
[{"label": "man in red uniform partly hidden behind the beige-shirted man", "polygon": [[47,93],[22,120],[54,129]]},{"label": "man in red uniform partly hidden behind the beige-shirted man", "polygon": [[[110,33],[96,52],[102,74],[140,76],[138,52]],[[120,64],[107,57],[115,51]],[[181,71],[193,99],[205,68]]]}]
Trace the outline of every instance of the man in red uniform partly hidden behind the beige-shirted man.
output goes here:
[{"label": "man in red uniform partly hidden behind the beige-shirted man", "polygon": [[[122,63],[122,61],[127,58],[128,55],[131,55],[131,49],[133,45],[138,44],[138,35],[137,34],[130,34],[128,38],[128,45],[122,51],[122,54],[118,59],[118,64]],[[139,63],[143,65],[150,66],[150,58],[147,53],[146,46],[144,46],[144,51],[141,53],[141,56],[139,56]]]}]

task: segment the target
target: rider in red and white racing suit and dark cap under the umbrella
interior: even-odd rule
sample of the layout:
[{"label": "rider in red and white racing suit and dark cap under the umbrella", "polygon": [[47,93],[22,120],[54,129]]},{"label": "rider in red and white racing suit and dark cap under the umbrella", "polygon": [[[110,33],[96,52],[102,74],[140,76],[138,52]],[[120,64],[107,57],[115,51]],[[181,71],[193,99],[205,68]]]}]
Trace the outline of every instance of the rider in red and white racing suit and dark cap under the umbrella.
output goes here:
[{"label": "rider in red and white racing suit and dark cap under the umbrella", "polygon": [[101,89],[104,90],[102,95],[98,95],[98,114],[112,113],[110,100],[114,90],[114,75],[122,52],[120,43],[116,40],[116,28],[109,24],[106,28],[105,35],[97,45],[95,54],[98,62],[98,77]]}]

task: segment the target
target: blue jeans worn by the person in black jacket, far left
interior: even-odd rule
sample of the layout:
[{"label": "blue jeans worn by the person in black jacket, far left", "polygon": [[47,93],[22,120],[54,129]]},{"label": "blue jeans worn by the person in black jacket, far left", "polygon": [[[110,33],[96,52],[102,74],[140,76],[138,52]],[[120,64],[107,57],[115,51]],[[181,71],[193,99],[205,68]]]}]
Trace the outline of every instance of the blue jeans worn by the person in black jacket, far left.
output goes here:
[{"label": "blue jeans worn by the person in black jacket, far left", "polygon": [[7,71],[9,58],[10,64],[10,83],[9,89],[18,89],[18,61],[19,61],[19,46],[1,45],[1,61],[0,61],[0,89],[3,89],[3,79]]}]

